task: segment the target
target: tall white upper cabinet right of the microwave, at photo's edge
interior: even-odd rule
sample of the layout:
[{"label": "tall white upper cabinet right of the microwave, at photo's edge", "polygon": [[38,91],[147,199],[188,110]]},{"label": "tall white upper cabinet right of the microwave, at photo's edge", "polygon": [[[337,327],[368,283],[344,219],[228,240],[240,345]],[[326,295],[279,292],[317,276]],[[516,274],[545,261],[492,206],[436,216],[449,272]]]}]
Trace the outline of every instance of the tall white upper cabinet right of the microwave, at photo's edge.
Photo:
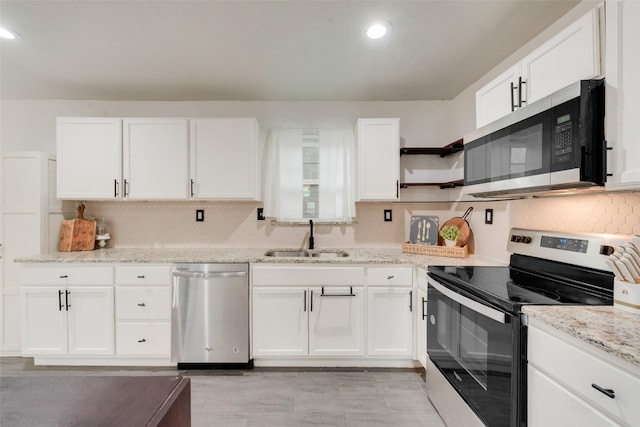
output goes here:
[{"label": "tall white upper cabinet right of the microwave, at photo's edge", "polygon": [[640,2],[605,3],[607,16],[606,129],[611,162],[607,190],[640,189]]}]

